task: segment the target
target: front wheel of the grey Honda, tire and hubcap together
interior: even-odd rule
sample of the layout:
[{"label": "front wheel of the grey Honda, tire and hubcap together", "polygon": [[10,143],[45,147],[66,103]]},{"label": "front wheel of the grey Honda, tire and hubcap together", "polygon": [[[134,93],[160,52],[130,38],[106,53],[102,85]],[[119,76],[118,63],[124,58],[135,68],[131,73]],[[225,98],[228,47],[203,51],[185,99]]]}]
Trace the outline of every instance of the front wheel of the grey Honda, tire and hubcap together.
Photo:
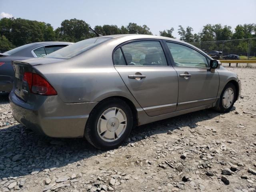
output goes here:
[{"label": "front wheel of the grey Honda, tire and hubcap together", "polygon": [[236,87],[232,83],[228,83],[220,95],[219,106],[215,109],[219,112],[226,113],[231,110],[236,101]]}]

